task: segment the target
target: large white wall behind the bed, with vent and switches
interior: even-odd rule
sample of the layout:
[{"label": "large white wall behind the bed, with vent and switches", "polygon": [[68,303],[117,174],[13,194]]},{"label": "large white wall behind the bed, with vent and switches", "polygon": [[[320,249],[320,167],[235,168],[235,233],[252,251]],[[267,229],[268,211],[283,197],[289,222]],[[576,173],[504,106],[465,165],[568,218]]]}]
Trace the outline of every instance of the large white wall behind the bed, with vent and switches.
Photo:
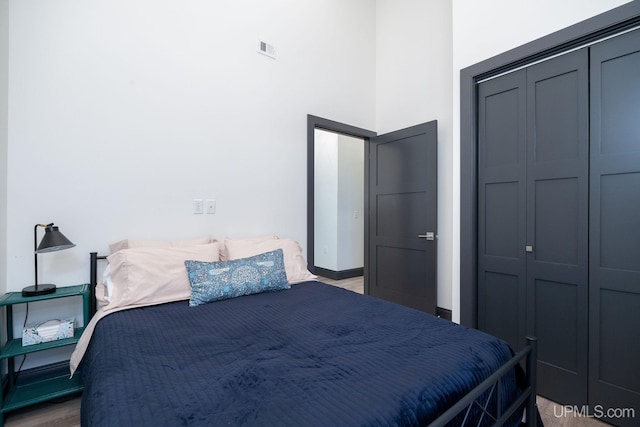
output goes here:
[{"label": "large white wall behind the bed, with vent and switches", "polygon": [[[39,257],[57,285],[88,281],[89,252],[126,237],[275,233],[306,248],[306,115],[375,127],[370,0],[9,6],[10,291],[33,281],[41,222],[77,245]],[[217,213],[192,214],[193,198]]]}]

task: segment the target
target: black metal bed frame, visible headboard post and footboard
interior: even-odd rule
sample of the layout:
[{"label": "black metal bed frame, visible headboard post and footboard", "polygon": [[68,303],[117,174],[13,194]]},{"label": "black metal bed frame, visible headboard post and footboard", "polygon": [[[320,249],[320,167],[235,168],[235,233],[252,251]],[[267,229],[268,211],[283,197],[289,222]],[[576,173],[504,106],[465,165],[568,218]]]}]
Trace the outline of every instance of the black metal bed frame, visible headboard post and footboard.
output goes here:
[{"label": "black metal bed frame, visible headboard post and footboard", "polygon": [[[107,257],[99,256],[97,252],[91,252],[90,256],[90,313],[93,315],[96,312],[95,287],[98,283],[98,260],[104,260],[107,259]],[[467,417],[474,407],[480,409],[482,413],[476,424],[477,426],[485,422],[485,416],[491,420],[489,422],[492,426],[502,426],[521,408],[524,408],[525,412],[524,423],[527,426],[536,426],[538,423],[538,410],[536,405],[537,339],[528,336],[526,340],[527,345],[523,350],[519,351],[509,359],[507,363],[463,396],[462,399],[429,424],[429,427],[443,427],[463,413],[465,416],[460,427],[470,426],[472,424],[468,421]],[[515,369],[516,365],[521,362],[525,362],[526,387],[521,391],[516,400],[511,403],[505,411],[502,411],[502,402],[500,401],[502,380],[505,375],[511,372],[512,369]],[[495,413],[492,413],[488,406],[494,394],[496,396],[496,410]]]}]

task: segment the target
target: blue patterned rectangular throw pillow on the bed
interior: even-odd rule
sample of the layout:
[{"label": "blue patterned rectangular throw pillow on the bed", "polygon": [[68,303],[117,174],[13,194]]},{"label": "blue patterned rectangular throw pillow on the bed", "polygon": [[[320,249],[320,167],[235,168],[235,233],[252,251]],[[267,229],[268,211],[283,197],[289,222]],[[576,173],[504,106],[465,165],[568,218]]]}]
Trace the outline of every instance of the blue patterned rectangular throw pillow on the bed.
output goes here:
[{"label": "blue patterned rectangular throw pillow on the bed", "polygon": [[231,261],[184,262],[191,284],[189,306],[289,289],[282,249]]}]

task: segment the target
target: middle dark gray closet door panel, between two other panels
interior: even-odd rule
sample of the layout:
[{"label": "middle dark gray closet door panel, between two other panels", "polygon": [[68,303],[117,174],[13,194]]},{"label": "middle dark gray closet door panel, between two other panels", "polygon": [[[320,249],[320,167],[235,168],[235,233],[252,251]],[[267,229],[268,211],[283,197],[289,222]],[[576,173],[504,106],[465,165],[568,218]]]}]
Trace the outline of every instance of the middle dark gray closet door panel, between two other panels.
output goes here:
[{"label": "middle dark gray closet door panel, between two other panels", "polygon": [[538,392],[587,404],[589,63],[581,49],[527,68],[527,334]]}]

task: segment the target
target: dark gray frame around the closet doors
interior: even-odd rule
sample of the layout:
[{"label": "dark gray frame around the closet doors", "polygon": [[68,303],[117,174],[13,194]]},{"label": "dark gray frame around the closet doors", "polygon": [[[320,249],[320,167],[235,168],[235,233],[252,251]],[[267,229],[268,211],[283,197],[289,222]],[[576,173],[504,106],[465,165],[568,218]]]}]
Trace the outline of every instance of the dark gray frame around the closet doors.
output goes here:
[{"label": "dark gray frame around the closet doors", "polygon": [[478,82],[640,25],[640,0],[460,70],[460,323],[477,327]]}]

